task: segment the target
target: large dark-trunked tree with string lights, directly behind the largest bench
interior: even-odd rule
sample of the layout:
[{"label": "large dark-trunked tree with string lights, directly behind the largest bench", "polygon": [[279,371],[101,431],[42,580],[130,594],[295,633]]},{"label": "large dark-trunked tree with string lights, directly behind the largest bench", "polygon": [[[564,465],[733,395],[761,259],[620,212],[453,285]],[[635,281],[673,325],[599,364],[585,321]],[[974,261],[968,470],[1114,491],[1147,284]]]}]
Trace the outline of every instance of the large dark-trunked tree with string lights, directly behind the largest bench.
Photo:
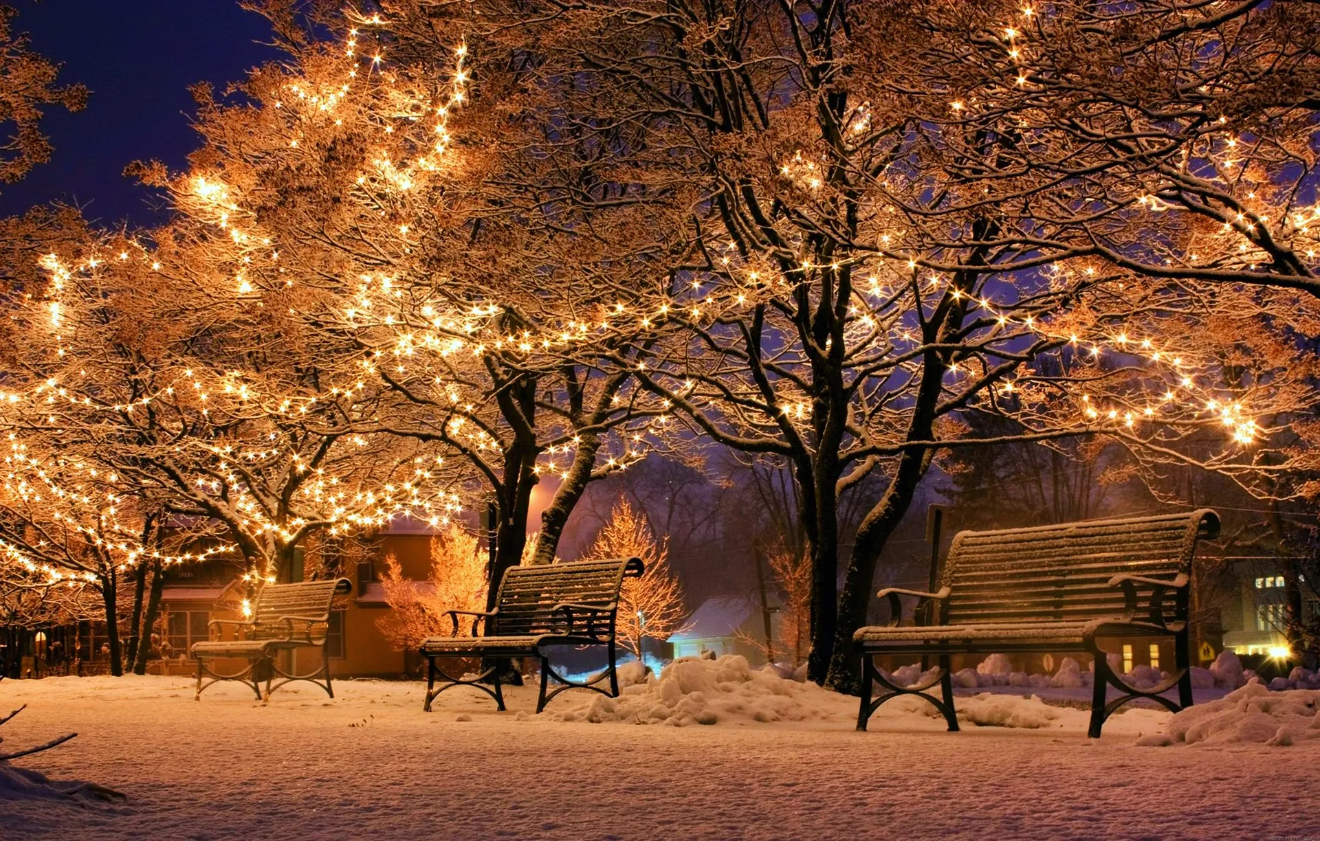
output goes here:
[{"label": "large dark-trunked tree with string lights, directly behind the largest bench", "polygon": [[[1230,323],[1259,334],[1262,319],[1299,312],[1290,327],[1304,326],[1304,302],[1271,291],[1291,281],[1237,272],[1171,282],[1154,261],[1080,243],[1121,220],[1164,250],[1199,253],[1197,231],[1166,227],[1150,202],[1089,221],[1096,204],[1105,208],[1105,190],[1134,183],[1127,162],[1140,156],[1117,152],[1123,117],[1088,112],[1085,98],[1069,104],[1071,83],[1038,90],[1030,72],[1007,75],[1026,50],[1015,22],[1024,14],[1053,34],[1031,55],[1063,70],[1074,62],[1110,92],[1118,83],[1102,86],[1101,76],[1113,65],[1078,49],[1088,38],[1102,33],[1117,55],[1137,61],[1151,28],[1156,44],[1192,54],[1237,25],[1236,13],[1173,3],[1138,4],[1135,13],[482,4],[491,37],[535,44],[527,49],[536,84],[554,90],[566,121],[628,125],[634,181],[690,202],[688,249],[671,264],[690,285],[644,310],[689,339],[659,343],[634,376],[702,434],[792,464],[812,552],[809,671],[837,688],[851,685],[850,639],[876,560],[936,452],[986,440],[964,415],[1011,417],[1011,440],[1105,435],[1152,464],[1185,461],[1177,442],[1218,424],[1230,434],[1226,451],[1204,464],[1245,477],[1275,467],[1261,457],[1274,450],[1271,430],[1250,413],[1298,406],[1298,392],[1279,388],[1298,353],[1249,359],[1243,378],[1225,376],[1213,351],[1236,339]],[[1134,14],[1142,24],[1129,28]],[[1197,22],[1175,24],[1179,14]],[[1249,75],[1251,62],[1269,61],[1275,36],[1295,32],[1266,26],[1245,58],[1222,54]],[[1206,70],[1199,59],[1177,66]],[[1123,113],[1160,96],[1168,104],[1158,75],[1133,75],[1151,90]],[[1304,107],[1305,94],[1296,95]],[[1117,102],[1114,92],[1106,107]],[[1101,140],[1080,146],[1092,120],[1118,128],[1106,123]],[[1170,154],[1193,152],[1189,137],[1175,136]],[[630,361],[619,369],[631,370]],[[840,498],[873,473],[883,490],[862,517],[837,592]]]}]

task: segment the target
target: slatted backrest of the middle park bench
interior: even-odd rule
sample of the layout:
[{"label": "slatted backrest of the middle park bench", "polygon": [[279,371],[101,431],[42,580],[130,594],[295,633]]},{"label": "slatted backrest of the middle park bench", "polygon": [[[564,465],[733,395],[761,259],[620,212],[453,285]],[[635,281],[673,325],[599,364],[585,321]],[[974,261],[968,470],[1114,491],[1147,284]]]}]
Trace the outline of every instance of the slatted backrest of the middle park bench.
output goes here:
[{"label": "slatted backrest of the middle park bench", "polygon": [[[626,575],[642,575],[636,558],[577,560],[558,564],[510,567],[495,597],[495,621],[487,635],[553,634],[564,630],[561,604],[593,605],[615,610]],[[614,614],[598,635],[614,633]]]}]

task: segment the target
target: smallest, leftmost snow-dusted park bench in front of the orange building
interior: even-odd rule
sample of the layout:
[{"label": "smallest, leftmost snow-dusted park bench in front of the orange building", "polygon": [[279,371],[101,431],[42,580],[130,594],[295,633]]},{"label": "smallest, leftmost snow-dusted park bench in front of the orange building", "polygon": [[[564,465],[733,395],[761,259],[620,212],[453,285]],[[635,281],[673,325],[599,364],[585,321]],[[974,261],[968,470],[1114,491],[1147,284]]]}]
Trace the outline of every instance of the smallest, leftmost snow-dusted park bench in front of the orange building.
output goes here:
[{"label": "smallest, leftmost snow-dusted park bench in front of the orange building", "polygon": [[[298,581],[296,584],[267,584],[256,596],[252,617],[246,620],[211,620],[213,639],[193,643],[197,659],[197,697],[202,689],[220,680],[242,680],[252,687],[259,699],[269,699],[271,692],[293,680],[308,680],[334,697],[330,685],[330,655],[326,650],[326,631],[330,625],[330,605],[334,597],[352,589],[348,579]],[[214,639],[219,629],[235,626],[238,639]],[[321,668],[297,674],[296,658],[300,649],[319,649]],[[279,663],[281,652],[290,652],[289,671]],[[236,672],[215,671],[214,660],[246,660]],[[210,660],[210,663],[209,663]],[[205,676],[210,676],[205,684]],[[272,685],[272,680],[276,680]],[[265,692],[261,691],[265,680]],[[322,683],[323,680],[323,683]]]}]

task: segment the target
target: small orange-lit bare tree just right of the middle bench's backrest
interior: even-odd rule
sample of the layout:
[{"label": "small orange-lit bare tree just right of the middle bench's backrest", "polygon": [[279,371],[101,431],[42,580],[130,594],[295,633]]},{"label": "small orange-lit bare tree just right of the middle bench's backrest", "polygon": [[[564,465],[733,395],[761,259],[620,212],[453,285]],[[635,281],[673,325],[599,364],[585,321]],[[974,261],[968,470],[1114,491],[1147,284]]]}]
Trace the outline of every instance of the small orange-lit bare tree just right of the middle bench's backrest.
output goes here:
[{"label": "small orange-lit bare tree just right of the middle bench's backrest", "polygon": [[642,660],[642,639],[668,639],[686,627],[682,587],[669,569],[669,539],[657,540],[645,513],[620,500],[582,560],[640,558],[645,572],[623,580],[615,633]]}]

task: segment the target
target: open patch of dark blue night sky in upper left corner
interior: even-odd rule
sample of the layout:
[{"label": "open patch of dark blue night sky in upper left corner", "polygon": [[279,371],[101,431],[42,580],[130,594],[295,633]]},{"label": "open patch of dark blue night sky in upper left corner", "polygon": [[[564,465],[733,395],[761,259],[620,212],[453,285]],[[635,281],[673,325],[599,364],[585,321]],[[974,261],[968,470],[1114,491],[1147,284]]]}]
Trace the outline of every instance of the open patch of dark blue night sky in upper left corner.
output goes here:
[{"label": "open patch of dark blue night sky in upper left corner", "polygon": [[219,94],[264,61],[277,58],[264,18],[236,0],[5,0],[18,9],[16,32],[62,62],[61,82],[91,90],[87,108],[50,108],[55,146],[16,185],[0,185],[0,215],[58,199],[84,206],[115,225],[160,219],[153,191],[123,177],[127,163],[157,158],[180,167],[197,145],[187,87],[207,80]]}]

